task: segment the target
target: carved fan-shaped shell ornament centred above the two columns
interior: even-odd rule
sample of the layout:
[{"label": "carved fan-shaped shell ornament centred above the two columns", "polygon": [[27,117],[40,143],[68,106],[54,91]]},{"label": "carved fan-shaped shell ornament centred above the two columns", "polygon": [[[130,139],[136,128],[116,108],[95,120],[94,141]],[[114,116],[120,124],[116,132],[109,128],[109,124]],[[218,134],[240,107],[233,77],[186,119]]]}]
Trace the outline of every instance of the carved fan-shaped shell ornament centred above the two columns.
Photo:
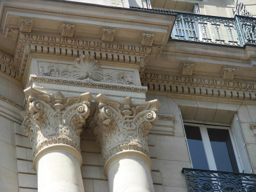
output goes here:
[{"label": "carved fan-shaped shell ornament centred above the two columns", "polygon": [[103,74],[99,61],[95,60],[90,54],[81,54],[76,58],[74,65],[65,68],[61,72],[61,77],[69,77],[72,79],[92,79],[93,81],[102,81]]}]

